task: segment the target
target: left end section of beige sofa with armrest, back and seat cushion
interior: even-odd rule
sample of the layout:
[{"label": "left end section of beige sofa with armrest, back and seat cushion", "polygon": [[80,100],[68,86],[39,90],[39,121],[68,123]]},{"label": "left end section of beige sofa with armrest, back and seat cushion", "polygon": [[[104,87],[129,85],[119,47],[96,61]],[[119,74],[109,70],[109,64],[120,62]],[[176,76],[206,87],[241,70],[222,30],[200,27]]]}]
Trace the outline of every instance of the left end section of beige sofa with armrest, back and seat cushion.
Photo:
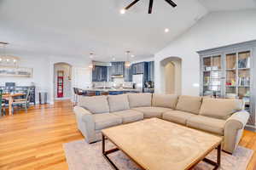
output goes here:
[{"label": "left end section of beige sofa with armrest, back and seat cushion", "polygon": [[122,118],[109,113],[108,97],[79,97],[74,107],[78,127],[88,143],[102,139],[101,130],[122,124]]}]

